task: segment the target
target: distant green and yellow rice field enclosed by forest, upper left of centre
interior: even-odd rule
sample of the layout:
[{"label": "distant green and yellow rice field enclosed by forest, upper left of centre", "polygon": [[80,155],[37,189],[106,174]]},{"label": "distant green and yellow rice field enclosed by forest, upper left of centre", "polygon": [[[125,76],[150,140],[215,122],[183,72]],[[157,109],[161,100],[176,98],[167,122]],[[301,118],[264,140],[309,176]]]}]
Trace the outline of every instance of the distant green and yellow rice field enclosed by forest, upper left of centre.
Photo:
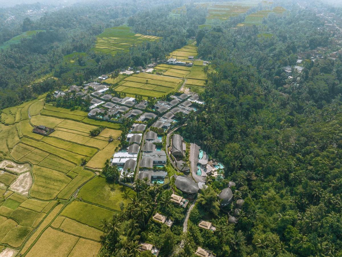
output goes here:
[{"label": "distant green and yellow rice field enclosed by forest, upper left of centre", "polygon": [[95,51],[115,55],[120,51],[129,51],[129,48],[133,45],[158,39],[160,39],[160,37],[136,34],[132,32],[131,27],[128,26],[119,26],[106,28],[103,33],[98,35],[96,45],[93,49]]}]

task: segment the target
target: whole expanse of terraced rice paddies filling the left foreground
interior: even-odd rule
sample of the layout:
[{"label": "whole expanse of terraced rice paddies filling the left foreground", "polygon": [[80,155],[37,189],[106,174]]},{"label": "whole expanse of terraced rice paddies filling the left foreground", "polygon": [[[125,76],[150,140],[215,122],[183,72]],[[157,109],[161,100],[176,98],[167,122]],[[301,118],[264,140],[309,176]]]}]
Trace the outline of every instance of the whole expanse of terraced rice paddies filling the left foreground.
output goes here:
[{"label": "whole expanse of terraced rice paddies filling the left foreground", "polygon": [[[108,143],[109,136],[117,139],[121,131],[113,127],[116,124],[102,121],[106,128],[90,137],[89,131],[100,125],[87,119],[79,110],[47,105],[43,97],[4,109],[1,249],[25,256],[97,256],[101,220],[119,211],[120,202],[127,205],[135,193],[96,176],[94,170],[103,167],[119,144],[118,140]],[[32,132],[33,125],[55,131],[42,136]],[[89,161],[87,169],[79,165],[82,159]]]}]

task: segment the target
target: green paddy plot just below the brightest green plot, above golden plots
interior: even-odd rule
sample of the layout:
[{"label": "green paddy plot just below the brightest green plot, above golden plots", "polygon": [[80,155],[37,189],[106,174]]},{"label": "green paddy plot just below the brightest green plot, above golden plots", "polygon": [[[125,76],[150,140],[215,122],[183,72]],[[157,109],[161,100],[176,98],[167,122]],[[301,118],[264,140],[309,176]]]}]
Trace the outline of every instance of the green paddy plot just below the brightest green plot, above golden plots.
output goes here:
[{"label": "green paddy plot just below the brightest green plot, above golden plots", "polygon": [[113,211],[96,205],[75,200],[62,211],[61,215],[91,227],[95,227],[95,229],[102,230],[100,227],[101,220],[111,218],[113,213]]}]

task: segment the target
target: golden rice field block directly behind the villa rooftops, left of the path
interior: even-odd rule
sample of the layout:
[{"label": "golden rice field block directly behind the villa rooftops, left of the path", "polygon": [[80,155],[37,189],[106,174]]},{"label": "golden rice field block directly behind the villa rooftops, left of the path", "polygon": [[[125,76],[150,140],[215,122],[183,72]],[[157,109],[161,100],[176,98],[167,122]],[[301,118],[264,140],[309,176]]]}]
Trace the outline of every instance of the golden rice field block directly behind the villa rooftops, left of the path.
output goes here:
[{"label": "golden rice field block directly behind the villa rooftops, left of the path", "polygon": [[[161,97],[170,92],[177,91],[183,84],[183,77],[170,76],[166,77],[140,73],[133,74],[123,79],[115,91],[126,93],[128,96],[142,95],[143,97]],[[174,78],[173,78],[174,77]]]}]

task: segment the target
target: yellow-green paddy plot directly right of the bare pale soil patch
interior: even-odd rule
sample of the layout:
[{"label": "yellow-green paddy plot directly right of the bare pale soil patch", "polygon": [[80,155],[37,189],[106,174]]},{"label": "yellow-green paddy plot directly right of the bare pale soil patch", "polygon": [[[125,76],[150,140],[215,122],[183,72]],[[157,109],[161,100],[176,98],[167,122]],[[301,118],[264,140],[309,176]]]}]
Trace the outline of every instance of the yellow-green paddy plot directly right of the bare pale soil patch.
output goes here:
[{"label": "yellow-green paddy plot directly right of the bare pale soil patch", "polygon": [[41,166],[33,166],[34,183],[31,196],[41,200],[55,198],[71,181],[66,174]]}]

